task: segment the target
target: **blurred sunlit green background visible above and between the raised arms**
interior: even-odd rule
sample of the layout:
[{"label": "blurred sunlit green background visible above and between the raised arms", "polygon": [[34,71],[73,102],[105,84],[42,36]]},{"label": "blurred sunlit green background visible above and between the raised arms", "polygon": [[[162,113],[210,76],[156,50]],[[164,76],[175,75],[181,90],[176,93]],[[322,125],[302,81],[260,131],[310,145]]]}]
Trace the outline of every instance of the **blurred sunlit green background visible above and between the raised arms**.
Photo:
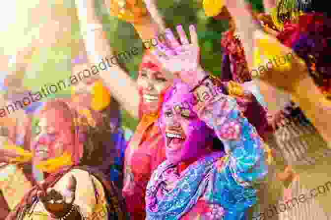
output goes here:
[{"label": "blurred sunlit green background visible above and between the raised arms", "polygon": [[[102,17],[111,45],[117,51],[128,51],[133,46],[141,48],[141,41],[132,25],[110,16],[101,1],[98,5],[96,10]],[[183,24],[188,31],[190,24],[197,24],[202,64],[213,74],[222,74],[220,39],[228,23],[206,17],[201,0],[158,0],[157,6],[166,25],[172,29],[177,24]],[[254,7],[262,11],[262,0],[254,0]],[[32,91],[68,78],[71,59],[83,48],[73,0],[6,1],[0,7],[0,27],[1,93],[6,89],[3,82],[7,74],[14,70],[10,63],[29,48],[35,47],[32,56],[24,60],[28,67],[19,77],[23,78],[22,86]],[[134,79],[140,61],[141,53],[125,63]],[[63,94],[70,94],[70,90],[57,95]],[[125,126],[135,129],[137,121],[125,111],[122,118]]]}]

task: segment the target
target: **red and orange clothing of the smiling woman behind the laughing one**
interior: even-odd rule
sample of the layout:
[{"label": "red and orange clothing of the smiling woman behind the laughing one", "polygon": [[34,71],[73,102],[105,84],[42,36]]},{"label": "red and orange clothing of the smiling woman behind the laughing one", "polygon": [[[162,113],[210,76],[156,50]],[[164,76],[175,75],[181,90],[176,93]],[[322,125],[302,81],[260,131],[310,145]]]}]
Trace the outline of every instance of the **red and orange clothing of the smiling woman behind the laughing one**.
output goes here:
[{"label": "red and orange clothing of the smiling woman behind the laughing one", "polygon": [[[161,110],[166,89],[159,99]],[[142,100],[140,101],[142,103]],[[148,108],[140,105],[142,108]],[[132,220],[145,220],[145,191],[154,169],[165,161],[165,142],[158,127],[159,113],[145,114],[139,109],[140,122],[125,151],[125,172],[131,168],[131,180],[124,180],[123,195]],[[147,109],[148,110],[148,109]],[[126,173],[125,176],[129,174]]]}]

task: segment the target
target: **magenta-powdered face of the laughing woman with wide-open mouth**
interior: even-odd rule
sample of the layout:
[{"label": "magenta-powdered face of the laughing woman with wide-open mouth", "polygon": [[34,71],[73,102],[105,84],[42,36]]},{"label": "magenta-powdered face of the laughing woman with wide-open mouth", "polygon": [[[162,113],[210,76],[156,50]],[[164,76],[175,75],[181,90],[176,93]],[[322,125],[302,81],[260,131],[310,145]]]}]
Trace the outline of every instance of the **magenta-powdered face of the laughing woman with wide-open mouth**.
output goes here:
[{"label": "magenta-powdered face of the laughing woman with wide-open mouth", "polygon": [[166,158],[173,164],[198,159],[211,144],[213,132],[192,110],[190,87],[175,83],[164,100],[159,126],[166,140]]}]

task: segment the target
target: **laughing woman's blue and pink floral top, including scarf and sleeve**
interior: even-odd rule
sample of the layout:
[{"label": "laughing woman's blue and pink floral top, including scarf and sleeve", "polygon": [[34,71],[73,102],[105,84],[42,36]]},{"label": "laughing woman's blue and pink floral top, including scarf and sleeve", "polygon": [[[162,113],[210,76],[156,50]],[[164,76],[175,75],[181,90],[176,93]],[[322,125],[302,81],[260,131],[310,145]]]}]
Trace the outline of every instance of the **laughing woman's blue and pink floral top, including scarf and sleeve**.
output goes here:
[{"label": "laughing woman's blue and pink floral top, including scarf and sleeve", "polygon": [[264,142],[234,98],[219,94],[202,104],[201,120],[225,145],[182,173],[169,161],[154,171],[146,190],[146,220],[244,220],[256,203],[255,183],[267,167]]}]

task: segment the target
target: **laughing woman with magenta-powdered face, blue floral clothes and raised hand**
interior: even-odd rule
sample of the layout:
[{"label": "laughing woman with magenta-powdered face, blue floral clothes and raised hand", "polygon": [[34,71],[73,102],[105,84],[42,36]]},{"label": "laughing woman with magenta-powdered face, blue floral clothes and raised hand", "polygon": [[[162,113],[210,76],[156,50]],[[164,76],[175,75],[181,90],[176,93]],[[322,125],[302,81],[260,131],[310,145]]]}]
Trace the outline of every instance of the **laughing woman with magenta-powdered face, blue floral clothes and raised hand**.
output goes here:
[{"label": "laughing woman with magenta-powdered face, blue floral clothes and raised hand", "polygon": [[[267,173],[265,143],[236,99],[200,66],[195,27],[191,44],[185,32],[178,33],[176,55],[156,52],[163,69],[183,82],[163,98],[158,121],[166,160],[148,182],[146,220],[244,220],[257,202],[254,184]],[[213,150],[215,137],[225,153]]]}]

